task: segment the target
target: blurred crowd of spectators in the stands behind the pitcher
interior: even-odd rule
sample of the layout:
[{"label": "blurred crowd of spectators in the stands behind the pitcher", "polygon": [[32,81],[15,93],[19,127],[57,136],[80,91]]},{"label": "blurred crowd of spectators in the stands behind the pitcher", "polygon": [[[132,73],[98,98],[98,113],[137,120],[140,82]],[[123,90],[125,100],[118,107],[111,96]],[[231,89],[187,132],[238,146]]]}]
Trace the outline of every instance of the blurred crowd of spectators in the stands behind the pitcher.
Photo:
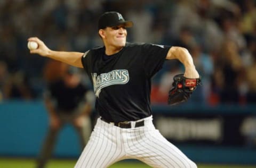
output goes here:
[{"label": "blurred crowd of spectators in the stands behind the pitcher", "polygon": [[[0,100],[41,98],[48,58],[30,55],[27,38],[51,49],[85,52],[101,46],[97,21],[118,11],[134,22],[127,41],[186,47],[202,75],[190,103],[256,102],[256,2],[253,0],[2,0],[0,1]],[[151,100],[166,104],[173,76],[167,61],[153,79]]]}]

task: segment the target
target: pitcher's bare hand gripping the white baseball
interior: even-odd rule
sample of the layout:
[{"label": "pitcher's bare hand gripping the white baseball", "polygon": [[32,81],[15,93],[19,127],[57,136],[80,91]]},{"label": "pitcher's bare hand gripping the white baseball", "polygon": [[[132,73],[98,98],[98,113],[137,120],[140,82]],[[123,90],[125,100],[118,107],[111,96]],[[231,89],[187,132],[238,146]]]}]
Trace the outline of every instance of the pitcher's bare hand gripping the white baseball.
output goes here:
[{"label": "pitcher's bare hand gripping the white baseball", "polygon": [[39,54],[41,56],[47,56],[50,49],[44,44],[44,42],[42,40],[40,40],[37,37],[30,37],[28,39],[28,43],[30,43],[31,41],[34,41],[38,45],[37,48],[36,47],[29,48],[31,54]]}]

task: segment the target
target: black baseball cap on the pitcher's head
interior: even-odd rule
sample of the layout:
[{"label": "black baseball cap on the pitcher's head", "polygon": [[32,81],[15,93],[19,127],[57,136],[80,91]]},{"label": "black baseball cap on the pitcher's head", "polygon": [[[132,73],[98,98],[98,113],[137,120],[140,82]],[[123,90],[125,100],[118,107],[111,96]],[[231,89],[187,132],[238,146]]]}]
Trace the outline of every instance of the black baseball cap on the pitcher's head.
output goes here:
[{"label": "black baseball cap on the pitcher's head", "polygon": [[118,26],[120,24],[124,24],[127,28],[133,26],[133,22],[124,20],[122,14],[118,12],[106,12],[100,16],[98,29],[105,29],[106,27]]}]

